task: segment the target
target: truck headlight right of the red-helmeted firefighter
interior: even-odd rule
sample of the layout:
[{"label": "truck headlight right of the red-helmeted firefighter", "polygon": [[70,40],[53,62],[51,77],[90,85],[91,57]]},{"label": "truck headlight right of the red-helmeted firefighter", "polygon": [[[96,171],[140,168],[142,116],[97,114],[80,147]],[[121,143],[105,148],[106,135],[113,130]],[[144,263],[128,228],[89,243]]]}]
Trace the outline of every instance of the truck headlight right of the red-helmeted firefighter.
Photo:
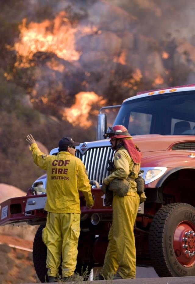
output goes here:
[{"label": "truck headlight right of the red-helmeted firefighter", "polygon": [[154,180],[158,179],[166,172],[167,168],[165,167],[153,167],[153,168],[141,168],[144,170],[143,178],[145,184],[151,183]]}]

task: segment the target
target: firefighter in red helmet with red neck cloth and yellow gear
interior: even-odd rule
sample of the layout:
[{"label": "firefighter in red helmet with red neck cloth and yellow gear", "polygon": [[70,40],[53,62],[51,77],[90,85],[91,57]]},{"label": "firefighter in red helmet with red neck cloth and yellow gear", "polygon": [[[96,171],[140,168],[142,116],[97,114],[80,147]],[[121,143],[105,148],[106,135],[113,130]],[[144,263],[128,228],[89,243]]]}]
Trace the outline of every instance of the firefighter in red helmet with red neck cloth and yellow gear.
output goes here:
[{"label": "firefighter in red helmet with red neck cloth and yellow gear", "polygon": [[[135,278],[136,249],[133,226],[140,202],[135,179],[140,171],[142,152],[134,145],[129,132],[122,125],[108,127],[106,136],[110,138],[112,150],[116,152],[113,170],[104,179],[101,189],[105,193],[113,180],[117,179],[117,184],[118,180],[121,182],[128,177],[130,189],[123,197],[113,191],[113,221],[108,234],[108,248],[102,270],[94,280]],[[110,205],[106,199],[105,205]]]}]

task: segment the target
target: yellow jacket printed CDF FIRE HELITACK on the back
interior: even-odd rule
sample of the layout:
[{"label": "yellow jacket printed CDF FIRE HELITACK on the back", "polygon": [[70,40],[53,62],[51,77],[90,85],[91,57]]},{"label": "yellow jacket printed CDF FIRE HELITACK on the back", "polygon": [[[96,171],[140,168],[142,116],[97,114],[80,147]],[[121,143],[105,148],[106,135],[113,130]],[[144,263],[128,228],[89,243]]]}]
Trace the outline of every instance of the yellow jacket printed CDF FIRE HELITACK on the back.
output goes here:
[{"label": "yellow jacket printed CDF FIRE HELITACK on the back", "polygon": [[33,161],[47,171],[47,200],[44,210],[53,213],[80,213],[79,190],[88,205],[93,205],[91,186],[82,161],[69,152],[45,155],[31,145]]}]

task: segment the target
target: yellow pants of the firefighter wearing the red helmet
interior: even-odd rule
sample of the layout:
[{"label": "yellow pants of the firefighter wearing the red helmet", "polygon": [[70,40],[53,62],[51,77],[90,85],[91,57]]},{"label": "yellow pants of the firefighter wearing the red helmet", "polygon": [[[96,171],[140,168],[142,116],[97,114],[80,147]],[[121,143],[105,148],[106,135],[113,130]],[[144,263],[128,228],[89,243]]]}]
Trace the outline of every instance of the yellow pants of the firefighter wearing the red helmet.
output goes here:
[{"label": "yellow pants of the firefighter wearing the red helmet", "polygon": [[135,278],[136,249],[133,226],[140,197],[137,192],[113,197],[113,222],[108,234],[108,248],[100,274],[109,279],[116,273],[122,278]]}]

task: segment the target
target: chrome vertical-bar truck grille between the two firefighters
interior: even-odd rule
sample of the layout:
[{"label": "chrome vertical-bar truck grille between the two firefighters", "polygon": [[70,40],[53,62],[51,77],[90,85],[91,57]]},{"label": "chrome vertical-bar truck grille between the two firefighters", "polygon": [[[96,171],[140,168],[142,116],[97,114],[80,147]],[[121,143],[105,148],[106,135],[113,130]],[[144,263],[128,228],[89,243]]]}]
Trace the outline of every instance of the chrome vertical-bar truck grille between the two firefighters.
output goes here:
[{"label": "chrome vertical-bar truck grille between the two firefighters", "polygon": [[80,158],[85,165],[89,180],[97,180],[102,184],[103,179],[108,175],[108,160],[113,159],[114,151],[110,146],[89,148],[83,155],[79,150],[76,157]]}]

